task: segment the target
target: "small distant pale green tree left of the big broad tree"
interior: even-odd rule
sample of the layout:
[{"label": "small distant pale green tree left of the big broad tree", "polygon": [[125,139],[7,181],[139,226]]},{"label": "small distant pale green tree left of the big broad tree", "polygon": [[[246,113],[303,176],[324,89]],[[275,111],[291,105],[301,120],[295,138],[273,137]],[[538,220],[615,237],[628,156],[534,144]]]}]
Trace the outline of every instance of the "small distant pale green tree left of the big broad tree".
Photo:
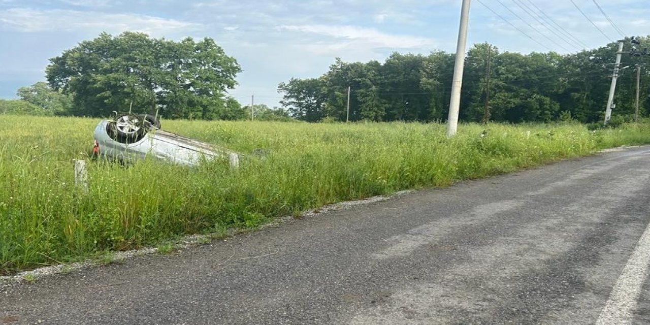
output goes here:
[{"label": "small distant pale green tree left of the big broad tree", "polygon": [[32,103],[45,112],[50,112],[51,115],[64,115],[72,105],[70,96],[52,90],[44,81],[18,88],[16,95],[23,101]]}]

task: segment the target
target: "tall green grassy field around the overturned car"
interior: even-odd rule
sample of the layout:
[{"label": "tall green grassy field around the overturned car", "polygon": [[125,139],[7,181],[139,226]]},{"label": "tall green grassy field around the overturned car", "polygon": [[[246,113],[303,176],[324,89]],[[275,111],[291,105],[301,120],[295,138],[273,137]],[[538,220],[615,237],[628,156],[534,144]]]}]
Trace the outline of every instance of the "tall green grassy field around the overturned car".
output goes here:
[{"label": "tall green grassy field around the overturned car", "polygon": [[[650,143],[650,124],[588,131],[566,125],[307,124],[163,121],[163,128],[250,153],[214,161],[91,162],[73,184],[98,120],[0,116],[0,274],[66,263],[179,235],[256,227],[342,200],[437,187],[601,148]],[[487,135],[481,137],[482,131]]]}]

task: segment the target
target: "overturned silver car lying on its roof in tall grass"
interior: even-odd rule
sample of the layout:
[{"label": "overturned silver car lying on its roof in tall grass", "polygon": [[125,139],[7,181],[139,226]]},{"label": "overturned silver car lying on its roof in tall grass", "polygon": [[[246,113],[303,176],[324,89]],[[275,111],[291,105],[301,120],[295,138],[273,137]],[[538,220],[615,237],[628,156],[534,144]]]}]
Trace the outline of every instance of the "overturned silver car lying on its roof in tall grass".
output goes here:
[{"label": "overturned silver car lying on its roof in tall grass", "polygon": [[95,157],[123,162],[155,157],[194,166],[203,159],[227,159],[235,154],[213,144],[162,131],[160,121],[150,114],[122,114],[112,120],[101,120],[93,138]]}]

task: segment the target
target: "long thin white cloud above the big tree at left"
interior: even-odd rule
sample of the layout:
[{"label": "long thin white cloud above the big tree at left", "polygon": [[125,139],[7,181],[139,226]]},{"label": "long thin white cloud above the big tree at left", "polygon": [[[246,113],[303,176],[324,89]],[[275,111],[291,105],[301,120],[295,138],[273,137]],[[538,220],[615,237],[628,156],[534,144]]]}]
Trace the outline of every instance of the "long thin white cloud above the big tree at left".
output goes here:
[{"label": "long thin white cloud above the big tree at left", "polygon": [[192,31],[200,24],[139,14],[107,14],[77,10],[33,10],[10,8],[0,10],[0,27],[20,32],[42,31],[139,31],[147,34],[166,34]]}]

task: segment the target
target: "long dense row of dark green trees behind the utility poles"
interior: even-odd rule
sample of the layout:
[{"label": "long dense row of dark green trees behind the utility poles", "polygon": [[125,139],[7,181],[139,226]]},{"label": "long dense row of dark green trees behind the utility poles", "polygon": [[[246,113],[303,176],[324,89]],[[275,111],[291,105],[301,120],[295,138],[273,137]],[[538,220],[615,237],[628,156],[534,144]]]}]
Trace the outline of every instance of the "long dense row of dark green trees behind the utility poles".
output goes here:
[{"label": "long dense row of dark green trees behind the utility poles", "polygon": [[[649,38],[638,38],[638,50],[650,47]],[[630,49],[629,42],[625,48]],[[461,93],[461,120],[484,119],[489,90],[489,119],[497,122],[549,122],[575,119],[593,123],[603,119],[614,68],[617,44],[559,55],[557,53],[500,52],[489,44],[476,44],[467,53]],[[487,62],[490,62],[489,86]],[[636,72],[642,65],[640,113],[648,116],[650,55],[623,55],[618,80],[617,121],[634,112]],[[393,53],[385,62],[343,62],[337,59],[318,78],[291,79],[278,86],[281,104],[299,120],[346,120],[348,86],[350,120],[438,121],[447,120],[454,55]]]}]

